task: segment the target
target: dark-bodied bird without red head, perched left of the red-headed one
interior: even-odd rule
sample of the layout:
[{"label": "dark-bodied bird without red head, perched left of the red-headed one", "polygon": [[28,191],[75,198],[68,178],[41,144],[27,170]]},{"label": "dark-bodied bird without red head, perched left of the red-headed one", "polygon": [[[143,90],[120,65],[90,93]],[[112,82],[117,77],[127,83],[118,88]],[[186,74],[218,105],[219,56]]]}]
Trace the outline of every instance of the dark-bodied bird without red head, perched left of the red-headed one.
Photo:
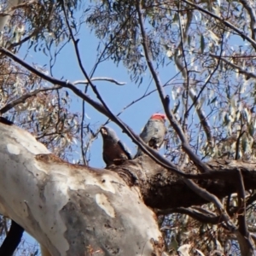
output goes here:
[{"label": "dark-bodied bird without red head, perched left of the red-headed one", "polygon": [[125,147],[125,144],[119,140],[113,129],[103,126],[101,128],[103,139],[103,160],[107,166],[119,166],[125,160],[131,160],[131,152]]}]

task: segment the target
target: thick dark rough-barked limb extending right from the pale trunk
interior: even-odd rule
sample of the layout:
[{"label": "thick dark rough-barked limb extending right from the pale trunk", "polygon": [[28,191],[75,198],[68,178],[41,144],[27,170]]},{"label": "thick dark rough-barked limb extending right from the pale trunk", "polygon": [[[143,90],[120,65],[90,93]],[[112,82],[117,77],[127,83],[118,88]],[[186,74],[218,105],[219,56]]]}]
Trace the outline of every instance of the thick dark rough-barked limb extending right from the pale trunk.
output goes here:
[{"label": "thick dark rough-barked limb extending right from the pale trunk", "polygon": [[[215,172],[216,176],[206,178],[197,175],[197,177],[201,177],[201,179],[197,179],[195,182],[202,189],[206,189],[219,199],[223,199],[237,192],[237,179],[230,179],[230,177],[236,177],[238,169],[241,169],[247,190],[254,189],[256,186],[255,163],[246,163],[237,160],[228,162],[215,160],[211,161],[210,165],[212,166],[212,172]],[[141,170],[143,170],[143,172],[141,172]],[[158,212],[165,211],[161,213],[168,214],[168,209],[201,206],[209,202],[206,198],[202,198],[193,190],[189,189],[181,177],[177,177],[172,172],[162,168],[162,166],[156,164],[154,160],[151,160],[146,154],[132,160],[132,163],[126,161],[122,166],[114,166],[111,168],[111,171],[118,173],[130,186],[138,186],[143,195],[143,201],[147,206],[158,209]],[[195,173],[197,167],[185,166],[183,171],[185,173]],[[218,172],[221,172],[221,175],[218,176]],[[168,200],[166,200],[166,198]],[[232,208],[232,212],[236,213],[236,211],[237,208]],[[209,212],[203,213],[208,214]],[[221,214],[218,213],[217,215],[222,218]]]}]

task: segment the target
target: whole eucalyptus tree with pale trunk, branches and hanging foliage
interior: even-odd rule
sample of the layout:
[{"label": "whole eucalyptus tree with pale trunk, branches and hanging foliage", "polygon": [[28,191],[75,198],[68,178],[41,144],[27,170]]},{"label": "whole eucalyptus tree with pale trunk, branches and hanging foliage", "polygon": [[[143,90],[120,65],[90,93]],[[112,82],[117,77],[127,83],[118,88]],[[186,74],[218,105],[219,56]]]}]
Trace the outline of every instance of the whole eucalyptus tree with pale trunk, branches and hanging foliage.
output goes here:
[{"label": "whole eucalyptus tree with pale trunk, branches and hanging foliage", "polygon": [[[15,125],[0,125],[1,213],[51,255],[253,255],[255,3],[16,1],[7,9],[12,26],[0,48],[0,112],[48,149]],[[101,42],[90,74],[79,45],[84,23]],[[16,55],[24,42],[49,55],[49,70]],[[84,92],[52,75],[65,44],[74,46]],[[93,76],[108,60],[126,67],[140,87],[152,79],[154,91],[131,104],[159,96],[170,125],[164,156],[108,108]],[[70,92],[119,125],[143,156],[105,171],[88,166],[100,127],[84,123],[84,108],[72,113]],[[74,139],[84,166],[67,163]]]}]

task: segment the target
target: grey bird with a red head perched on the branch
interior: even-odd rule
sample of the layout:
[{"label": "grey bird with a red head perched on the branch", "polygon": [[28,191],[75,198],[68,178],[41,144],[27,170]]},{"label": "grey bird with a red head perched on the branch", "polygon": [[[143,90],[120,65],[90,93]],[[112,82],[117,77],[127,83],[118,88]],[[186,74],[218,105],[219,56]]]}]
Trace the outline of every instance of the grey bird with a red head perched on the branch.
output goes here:
[{"label": "grey bird with a red head perched on the branch", "polygon": [[[166,136],[166,115],[163,113],[154,113],[148,123],[144,126],[140,137],[143,142],[148,144],[150,148],[159,149],[164,143]],[[140,156],[143,153],[141,148],[137,149],[137,154],[135,157]]]}]

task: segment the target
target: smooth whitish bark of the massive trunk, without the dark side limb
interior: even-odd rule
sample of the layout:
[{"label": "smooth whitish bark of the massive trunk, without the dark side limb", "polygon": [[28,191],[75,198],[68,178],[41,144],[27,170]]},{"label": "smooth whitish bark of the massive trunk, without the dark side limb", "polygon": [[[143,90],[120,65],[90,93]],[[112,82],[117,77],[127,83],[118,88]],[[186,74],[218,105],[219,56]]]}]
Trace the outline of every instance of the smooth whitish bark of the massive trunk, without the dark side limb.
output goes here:
[{"label": "smooth whitish bark of the massive trunk, without the dark side limb", "polygon": [[154,212],[116,173],[64,162],[30,133],[2,123],[0,162],[0,213],[52,256],[159,254]]}]

